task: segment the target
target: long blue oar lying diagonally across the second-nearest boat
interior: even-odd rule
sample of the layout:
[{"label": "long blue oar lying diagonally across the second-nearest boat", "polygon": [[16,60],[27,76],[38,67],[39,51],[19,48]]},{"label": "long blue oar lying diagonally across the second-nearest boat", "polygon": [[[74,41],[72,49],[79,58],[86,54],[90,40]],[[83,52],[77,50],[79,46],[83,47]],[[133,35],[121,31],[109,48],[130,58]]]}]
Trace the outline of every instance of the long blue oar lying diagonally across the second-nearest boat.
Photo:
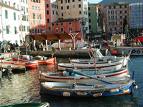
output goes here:
[{"label": "long blue oar lying diagonally across the second-nearest boat", "polygon": [[101,81],[101,82],[106,83],[106,84],[113,84],[111,82],[108,82],[108,81],[105,81],[105,80],[101,80],[101,79],[99,79],[97,77],[92,77],[92,76],[87,75],[85,73],[82,73],[82,72],[79,72],[79,71],[74,71],[72,69],[67,69],[66,71],[70,72],[70,73],[75,73],[75,74],[78,74],[78,75],[86,76],[86,77],[91,78],[91,79],[96,79],[96,80]]}]

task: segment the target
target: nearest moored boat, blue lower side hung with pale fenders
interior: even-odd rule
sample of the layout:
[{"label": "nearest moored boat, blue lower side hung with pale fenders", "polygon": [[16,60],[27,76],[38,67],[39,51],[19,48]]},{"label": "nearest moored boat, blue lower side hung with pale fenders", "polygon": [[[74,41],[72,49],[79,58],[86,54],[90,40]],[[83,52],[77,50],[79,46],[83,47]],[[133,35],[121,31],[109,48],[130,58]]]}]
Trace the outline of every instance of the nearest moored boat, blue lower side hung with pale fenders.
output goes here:
[{"label": "nearest moored boat, blue lower side hung with pale fenders", "polygon": [[130,94],[132,92],[133,80],[119,84],[80,84],[63,82],[42,82],[41,94],[62,97],[101,97]]}]

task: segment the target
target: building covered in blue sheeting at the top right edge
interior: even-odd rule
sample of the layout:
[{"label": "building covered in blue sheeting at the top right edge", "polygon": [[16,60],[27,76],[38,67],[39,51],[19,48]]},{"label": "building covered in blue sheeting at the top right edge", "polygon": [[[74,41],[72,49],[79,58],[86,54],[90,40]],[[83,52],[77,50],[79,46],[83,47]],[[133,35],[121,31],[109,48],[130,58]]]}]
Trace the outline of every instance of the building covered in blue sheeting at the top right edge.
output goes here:
[{"label": "building covered in blue sheeting at the top right edge", "polygon": [[131,29],[143,29],[143,3],[129,5],[129,22]]}]

